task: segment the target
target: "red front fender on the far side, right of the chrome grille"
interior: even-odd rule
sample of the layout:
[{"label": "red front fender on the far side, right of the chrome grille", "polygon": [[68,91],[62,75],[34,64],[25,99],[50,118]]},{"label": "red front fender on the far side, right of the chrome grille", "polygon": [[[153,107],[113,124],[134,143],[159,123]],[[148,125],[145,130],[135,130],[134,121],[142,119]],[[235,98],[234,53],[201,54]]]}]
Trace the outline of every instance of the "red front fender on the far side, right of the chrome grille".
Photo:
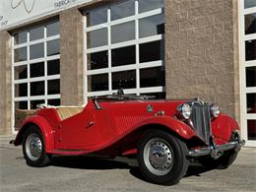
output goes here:
[{"label": "red front fender on the far side, right of the chrome grille", "polygon": [[232,132],[239,129],[237,122],[226,114],[220,114],[219,117],[212,122],[213,135],[224,141],[229,141]]}]

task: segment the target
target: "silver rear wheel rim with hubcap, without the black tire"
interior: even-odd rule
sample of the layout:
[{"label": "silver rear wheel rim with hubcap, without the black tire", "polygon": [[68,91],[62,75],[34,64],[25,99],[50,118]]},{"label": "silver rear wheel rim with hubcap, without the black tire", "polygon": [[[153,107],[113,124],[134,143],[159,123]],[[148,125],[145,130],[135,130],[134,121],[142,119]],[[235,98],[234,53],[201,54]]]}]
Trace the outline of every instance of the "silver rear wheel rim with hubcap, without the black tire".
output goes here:
[{"label": "silver rear wheel rim with hubcap, without the black tire", "polygon": [[42,151],[41,140],[36,134],[31,134],[26,141],[26,153],[31,160],[38,160]]}]

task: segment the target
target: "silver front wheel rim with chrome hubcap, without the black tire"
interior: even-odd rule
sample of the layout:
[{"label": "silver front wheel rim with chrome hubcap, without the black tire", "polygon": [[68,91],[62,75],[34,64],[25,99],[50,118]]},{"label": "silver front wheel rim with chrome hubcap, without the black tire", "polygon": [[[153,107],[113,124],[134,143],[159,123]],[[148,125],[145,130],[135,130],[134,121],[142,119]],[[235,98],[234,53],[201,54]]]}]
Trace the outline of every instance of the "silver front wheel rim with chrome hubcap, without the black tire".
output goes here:
[{"label": "silver front wheel rim with chrome hubcap, without the black tire", "polygon": [[144,160],[152,173],[165,175],[173,165],[172,150],[165,140],[154,138],[145,145]]}]

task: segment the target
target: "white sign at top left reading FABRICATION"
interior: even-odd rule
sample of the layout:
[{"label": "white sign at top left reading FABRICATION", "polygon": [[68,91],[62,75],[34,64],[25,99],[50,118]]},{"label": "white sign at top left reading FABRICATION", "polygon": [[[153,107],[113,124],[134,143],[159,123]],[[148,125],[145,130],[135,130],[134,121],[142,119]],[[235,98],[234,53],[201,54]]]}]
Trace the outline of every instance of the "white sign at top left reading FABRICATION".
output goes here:
[{"label": "white sign at top left reading FABRICATION", "polygon": [[0,0],[0,30],[92,0]]}]

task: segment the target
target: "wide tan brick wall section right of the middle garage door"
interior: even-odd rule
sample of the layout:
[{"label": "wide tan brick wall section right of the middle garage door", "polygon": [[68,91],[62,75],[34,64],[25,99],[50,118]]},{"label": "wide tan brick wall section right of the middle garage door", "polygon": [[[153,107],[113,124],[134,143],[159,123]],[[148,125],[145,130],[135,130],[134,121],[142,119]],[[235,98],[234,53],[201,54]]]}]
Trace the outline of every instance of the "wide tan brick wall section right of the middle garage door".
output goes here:
[{"label": "wide tan brick wall section right of the middle garage door", "polygon": [[203,97],[239,120],[237,0],[165,0],[166,96]]}]

